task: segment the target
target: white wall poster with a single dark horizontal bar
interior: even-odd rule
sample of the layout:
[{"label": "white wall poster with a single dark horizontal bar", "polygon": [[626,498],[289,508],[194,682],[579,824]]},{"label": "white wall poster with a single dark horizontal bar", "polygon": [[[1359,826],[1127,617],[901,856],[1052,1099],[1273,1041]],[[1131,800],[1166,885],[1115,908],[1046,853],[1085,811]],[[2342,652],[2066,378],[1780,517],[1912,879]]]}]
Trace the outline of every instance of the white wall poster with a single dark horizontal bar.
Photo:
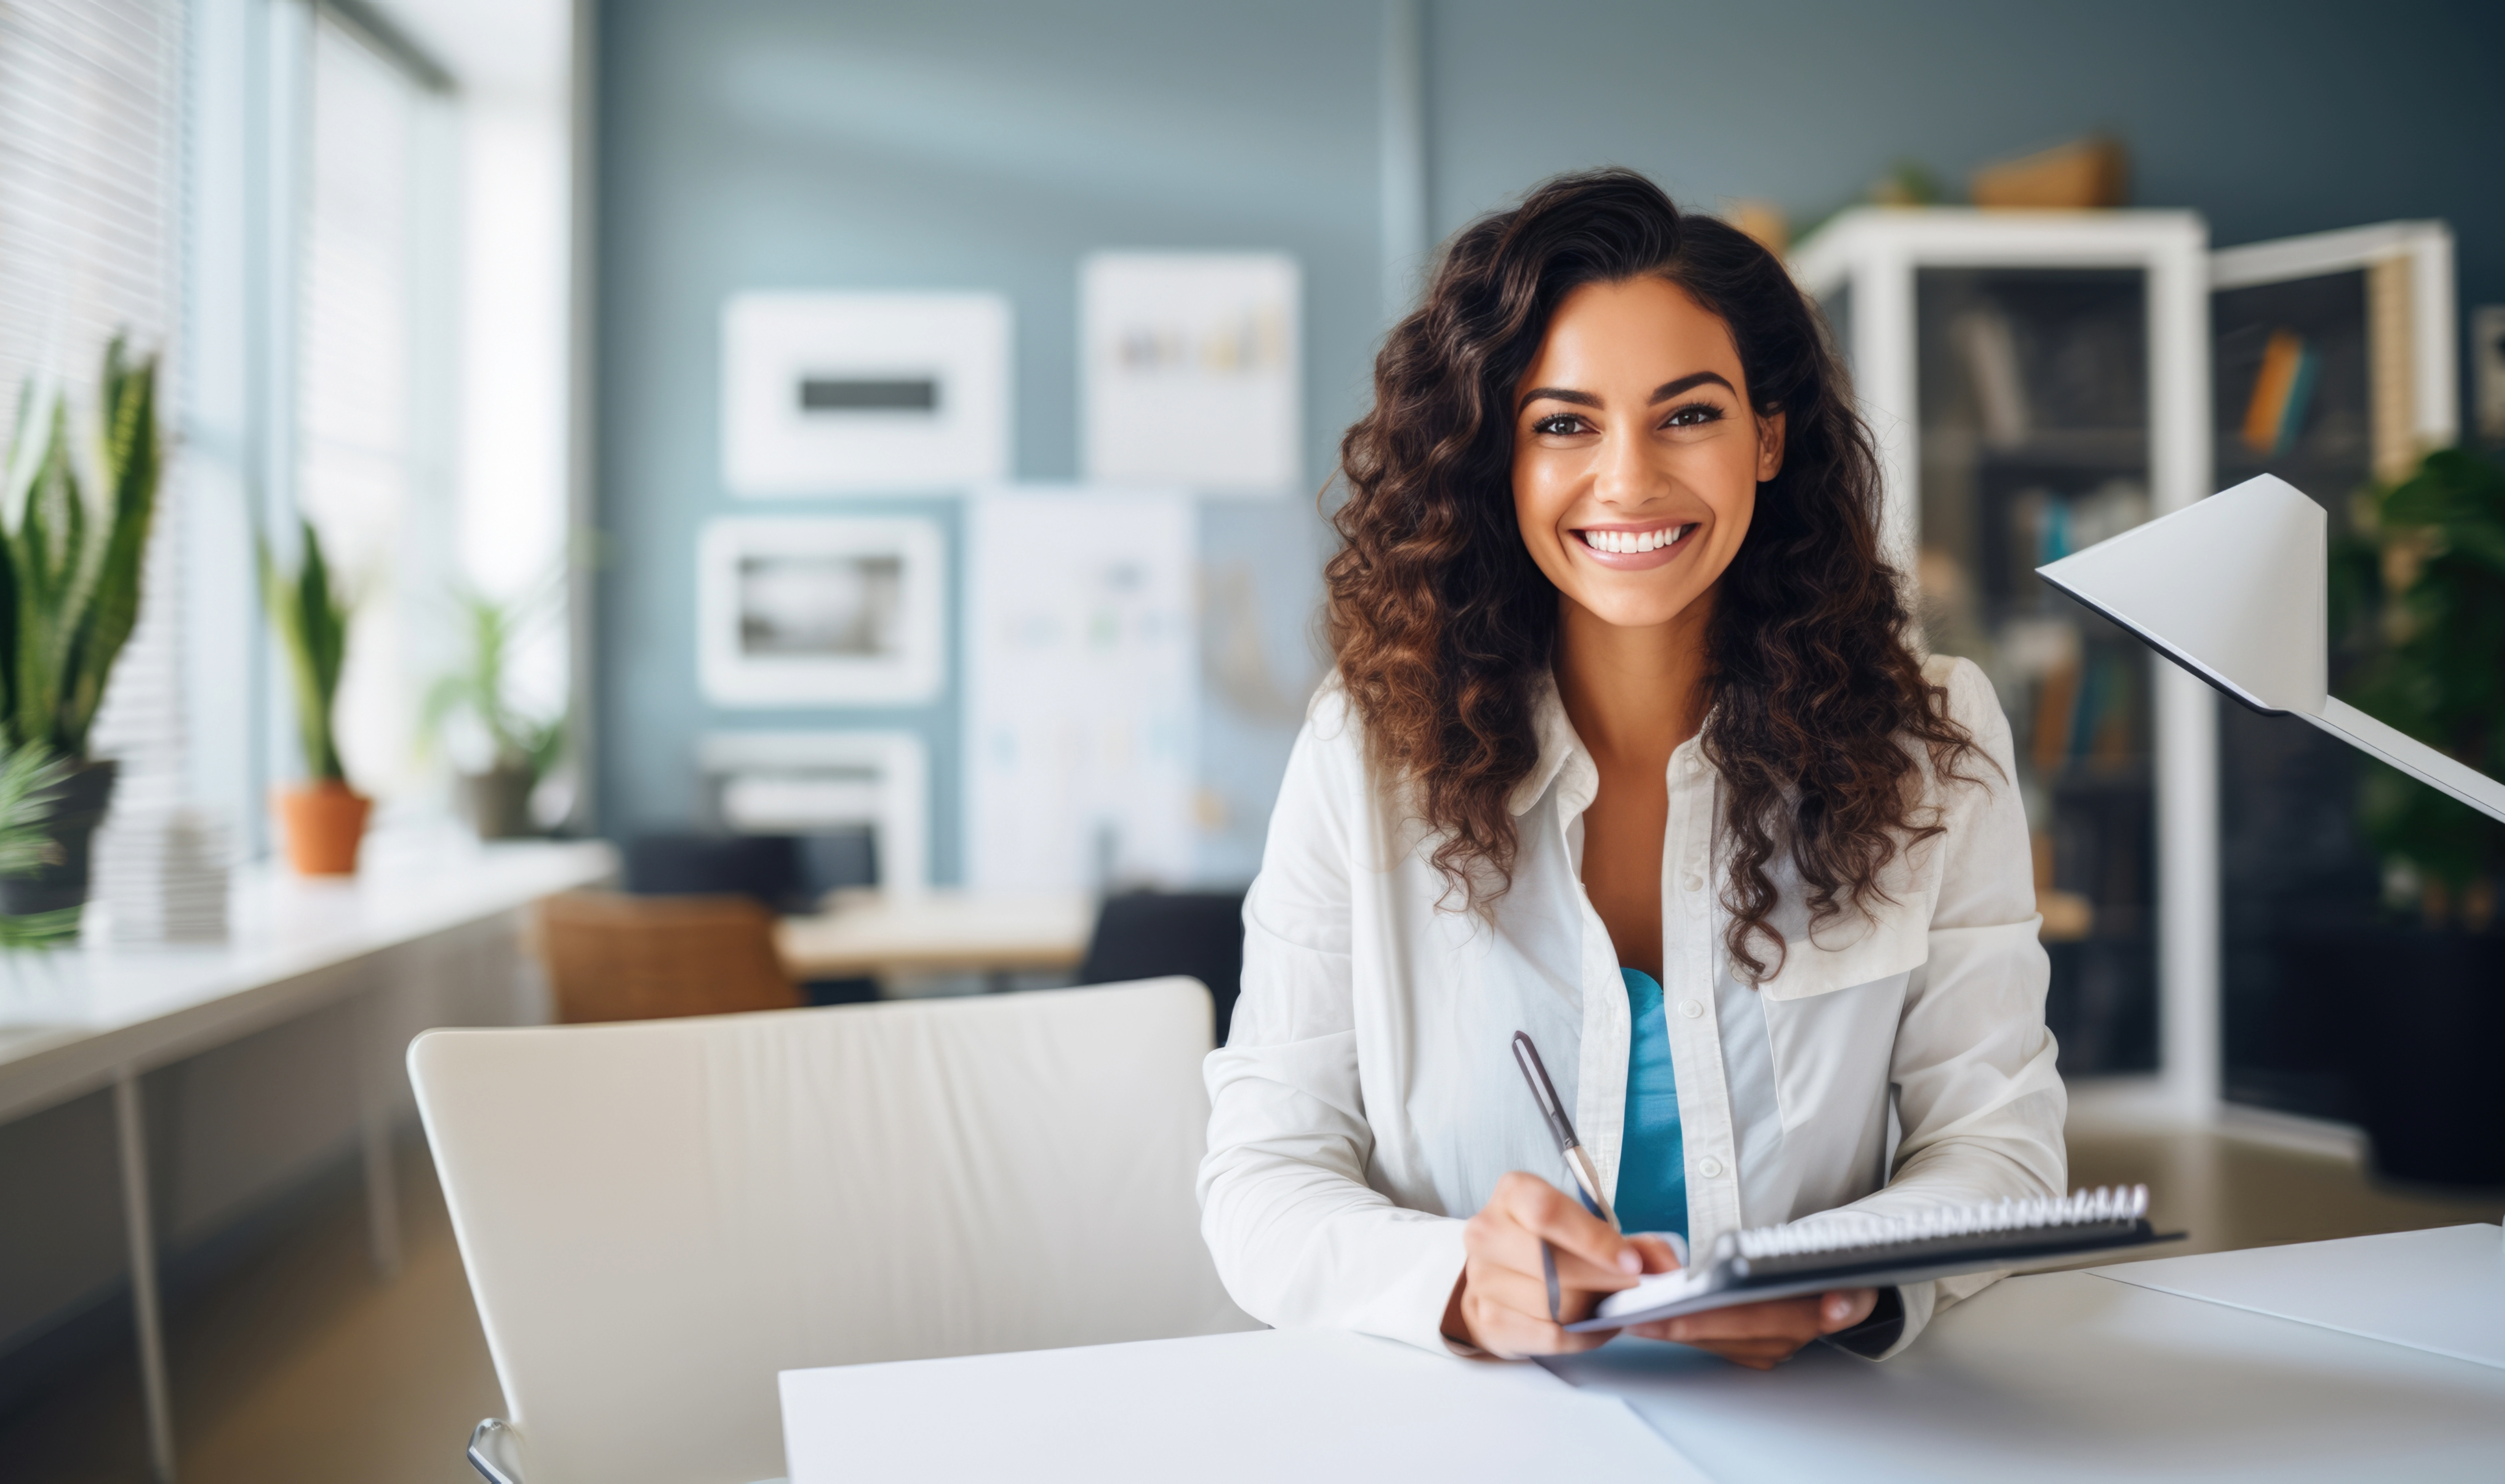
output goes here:
[{"label": "white wall poster with a single dark horizontal bar", "polygon": [[1010,478],[1010,300],[739,293],[721,305],[734,496],[937,493]]}]

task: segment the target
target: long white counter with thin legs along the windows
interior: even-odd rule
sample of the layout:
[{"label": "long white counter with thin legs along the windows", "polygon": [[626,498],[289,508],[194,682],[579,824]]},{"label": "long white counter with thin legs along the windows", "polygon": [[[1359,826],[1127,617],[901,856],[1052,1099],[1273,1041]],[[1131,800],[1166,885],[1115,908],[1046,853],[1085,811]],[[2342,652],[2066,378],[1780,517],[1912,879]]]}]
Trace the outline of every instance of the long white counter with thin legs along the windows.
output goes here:
[{"label": "long white counter with thin legs along the windows", "polygon": [[[616,853],[589,843],[498,843],[433,836],[371,841],[366,871],[308,881],[276,866],[235,873],[225,943],[80,943],[45,953],[0,953],[0,1121],[113,1089],[123,1214],[130,1236],[130,1299],[140,1341],[150,1451],[173,1476],[163,1331],[155,1296],[155,1234],[148,1219],[148,1146],[140,1074],[238,1041],[293,1016],[338,1004],[351,976],[326,973],[524,908],[541,896],[616,873]],[[376,1266],[398,1266],[391,1186],[388,1099],[398,1049],[378,1046],[366,1069],[366,1214]]]}]

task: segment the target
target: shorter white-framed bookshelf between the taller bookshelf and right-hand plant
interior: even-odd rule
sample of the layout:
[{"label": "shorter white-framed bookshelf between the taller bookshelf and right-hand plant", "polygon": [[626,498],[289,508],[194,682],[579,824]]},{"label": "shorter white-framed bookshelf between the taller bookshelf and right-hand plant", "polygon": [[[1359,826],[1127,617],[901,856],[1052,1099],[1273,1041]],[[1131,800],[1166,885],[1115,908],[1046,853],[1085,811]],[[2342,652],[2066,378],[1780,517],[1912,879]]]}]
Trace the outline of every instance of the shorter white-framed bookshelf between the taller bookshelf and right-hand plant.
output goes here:
[{"label": "shorter white-framed bookshelf between the taller bookshelf and right-hand plant", "polygon": [[[2352,533],[2352,496],[2457,435],[2452,233],[2382,223],[2209,258],[2217,483],[2275,473]],[[2360,656],[2335,643],[2332,693]],[[2385,923],[2357,831],[2362,761],[2307,726],[2217,701],[2224,1096],[2352,1121],[2357,983]]]}]

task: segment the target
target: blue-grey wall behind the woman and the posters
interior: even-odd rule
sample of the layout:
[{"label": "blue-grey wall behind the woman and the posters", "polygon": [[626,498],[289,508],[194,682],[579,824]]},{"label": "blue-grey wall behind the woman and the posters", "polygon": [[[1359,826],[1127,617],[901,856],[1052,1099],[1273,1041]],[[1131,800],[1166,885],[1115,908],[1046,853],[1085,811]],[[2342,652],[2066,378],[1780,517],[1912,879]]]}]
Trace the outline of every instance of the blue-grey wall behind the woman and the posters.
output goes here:
[{"label": "blue-grey wall behind the woman and the posters", "polygon": [[[1450,230],[1576,165],[1796,220],[1896,158],[1956,183],[2107,128],[2142,205],[2219,245],[2447,218],[2462,303],[2505,300],[2505,8],[1929,0],[1643,5],[1425,0],[1430,220]],[[1017,473],[1077,470],[1077,260],[1280,248],[1305,265],[1308,485],[1363,408],[1380,333],[1380,28],[1363,0],[609,0],[601,5],[604,823],[686,826],[694,738],[912,726],[934,861],[957,873],[957,696],[914,711],[711,711],[694,538],[719,478],[719,330],[744,288],[992,288],[1017,308]],[[957,501],[932,511],[957,541]],[[1305,501],[1212,501],[1210,568],[1258,593],[1273,673],[1313,676],[1325,531]],[[1250,876],[1290,728],[1220,693],[1202,771],[1212,881]]]}]

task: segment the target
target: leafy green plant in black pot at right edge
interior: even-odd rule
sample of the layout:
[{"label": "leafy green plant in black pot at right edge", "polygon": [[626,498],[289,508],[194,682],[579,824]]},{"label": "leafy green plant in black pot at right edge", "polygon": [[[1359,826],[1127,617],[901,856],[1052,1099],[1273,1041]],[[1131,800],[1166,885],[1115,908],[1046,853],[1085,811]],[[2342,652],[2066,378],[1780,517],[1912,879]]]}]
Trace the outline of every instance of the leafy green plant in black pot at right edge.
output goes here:
[{"label": "leafy green plant in black pot at right edge", "polygon": [[[2347,701],[2505,778],[2505,468],[2447,448],[2367,490],[2335,551],[2335,618],[2365,646]],[[2360,1009],[2352,1091],[2380,1171],[2505,1184],[2505,823],[2380,763],[2360,823],[2395,923],[2340,971]],[[2415,918],[2415,921],[2412,921]]]}]

